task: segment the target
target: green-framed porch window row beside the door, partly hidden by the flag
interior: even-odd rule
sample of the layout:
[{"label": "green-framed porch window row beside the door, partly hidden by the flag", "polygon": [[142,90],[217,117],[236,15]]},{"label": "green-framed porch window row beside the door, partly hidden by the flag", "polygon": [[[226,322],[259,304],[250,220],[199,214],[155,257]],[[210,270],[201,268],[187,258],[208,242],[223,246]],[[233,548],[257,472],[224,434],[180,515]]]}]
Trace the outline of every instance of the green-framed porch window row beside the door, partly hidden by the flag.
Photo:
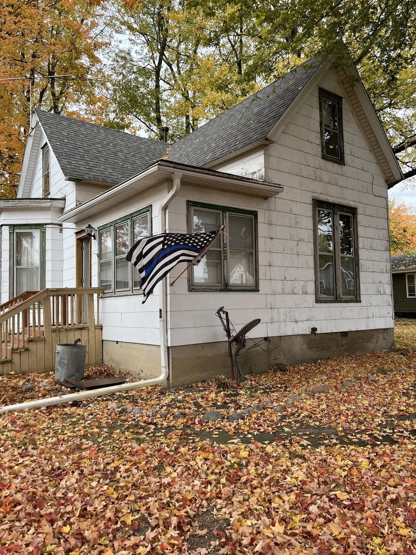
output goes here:
[{"label": "green-framed porch window row beside the door, partly hidden by the flag", "polygon": [[150,235],[150,209],[126,216],[99,229],[100,286],[104,293],[140,291],[140,276],[126,260],[131,247]]}]

